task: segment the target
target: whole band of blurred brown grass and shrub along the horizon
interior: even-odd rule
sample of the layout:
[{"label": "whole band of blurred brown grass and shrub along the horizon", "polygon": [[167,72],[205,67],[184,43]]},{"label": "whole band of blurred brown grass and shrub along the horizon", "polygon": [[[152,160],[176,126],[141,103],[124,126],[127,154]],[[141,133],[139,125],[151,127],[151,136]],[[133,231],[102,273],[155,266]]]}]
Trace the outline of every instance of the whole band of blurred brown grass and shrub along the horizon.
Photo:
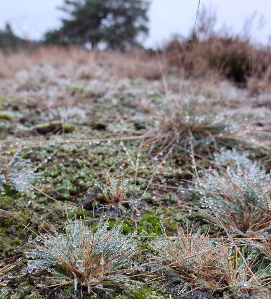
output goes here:
[{"label": "whole band of blurred brown grass and shrub along the horizon", "polygon": [[[253,45],[239,37],[210,36],[199,41],[175,35],[165,44],[165,50],[155,51],[131,49],[118,51],[87,51],[82,46],[47,46],[19,53],[0,52],[0,77],[13,77],[20,69],[31,64],[49,63],[58,68],[72,62],[81,68],[79,78],[91,79],[90,67],[105,68],[110,76],[158,80],[163,75],[216,77],[219,74],[239,84],[246,85],[252,92],[268,91],[271,80],[270,46]],[[180,89],[176,83],[175,89]],[[175,85],[176,85],[175,84]]]}]

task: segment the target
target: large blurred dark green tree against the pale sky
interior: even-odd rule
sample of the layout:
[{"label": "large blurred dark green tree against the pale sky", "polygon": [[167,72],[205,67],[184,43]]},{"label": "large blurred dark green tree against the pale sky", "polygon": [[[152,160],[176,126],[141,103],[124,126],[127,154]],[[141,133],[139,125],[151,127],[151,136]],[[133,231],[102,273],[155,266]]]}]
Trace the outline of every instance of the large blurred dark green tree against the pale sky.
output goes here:
[{"label": "large blurred dark green tree against the pale sky", "polygon": [[96,50],[103,41],[109,48],[125,49],[148,33],[148,7],[145,0],[64,0],[60,9],[70,18],[62,19],[60,30],[48,32],[45,42],[89,42]]}]

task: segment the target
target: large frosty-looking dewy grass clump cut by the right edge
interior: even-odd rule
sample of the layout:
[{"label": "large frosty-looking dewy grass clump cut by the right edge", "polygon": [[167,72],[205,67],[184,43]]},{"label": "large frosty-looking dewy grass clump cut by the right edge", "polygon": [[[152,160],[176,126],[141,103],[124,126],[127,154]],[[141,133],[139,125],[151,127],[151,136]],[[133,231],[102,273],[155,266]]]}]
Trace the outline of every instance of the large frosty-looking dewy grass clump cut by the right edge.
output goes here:
[{"label": "large frosty-looking dewy grass clump cut by the right edge", "polygon": [[265,174],[255,163],[249,169],[236,164],[236,169],[210,168],[203,173],[199,191],[205,209],[200,214],[216,224],[221,221],[234,234],[270,233],[270,174]]}]

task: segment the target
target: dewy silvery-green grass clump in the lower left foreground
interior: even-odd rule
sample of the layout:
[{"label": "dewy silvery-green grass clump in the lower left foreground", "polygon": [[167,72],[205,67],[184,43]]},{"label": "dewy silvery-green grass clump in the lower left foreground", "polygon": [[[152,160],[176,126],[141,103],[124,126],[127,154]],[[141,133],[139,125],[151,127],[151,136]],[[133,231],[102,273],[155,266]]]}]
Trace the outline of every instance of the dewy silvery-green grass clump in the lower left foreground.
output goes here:
[{"label": "dewy silvery-green grass clump in the lower left foreground", "polygon": [[[105,215],[98,226],[88,228],[82,219],[66,221],[66,234],[54,232],[40,234],[35,240],[30,237],[29,243],[35,248],[26,252],[28,266],[23,274],[32,273],[34,269],[44,268],[55,279],[54,286],[68,284],[86,286],[88,292],[102,289],[109,293],[110,286],[129,281],[127,276],[133,271],[133,255],[137,243],[133,235],[123,236],[122,223],[116,224],[110,231]],[[82,292],[82,291],[81,291]]]}]

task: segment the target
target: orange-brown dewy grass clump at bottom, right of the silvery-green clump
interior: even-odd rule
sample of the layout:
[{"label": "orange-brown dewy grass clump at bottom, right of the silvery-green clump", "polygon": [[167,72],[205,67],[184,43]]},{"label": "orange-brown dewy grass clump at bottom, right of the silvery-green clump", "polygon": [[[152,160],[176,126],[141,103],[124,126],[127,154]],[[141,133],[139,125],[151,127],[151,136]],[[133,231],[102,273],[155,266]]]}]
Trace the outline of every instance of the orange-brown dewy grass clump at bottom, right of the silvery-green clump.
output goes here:
[{"label": "orange-brown dewy grass clump at bottom, right of the silvery-green clump", "polygon": [[192,230],[185,232],[178,228],[175,239],[164,237],[151,247],[157,253],[152,256],[161,275],[156,280],[162,287],[172,283],[179,284],[179,295],[194,288],[212,289],[213,272],[217,269],[217,240],[209,238],[208,233],[201,234]]}]

